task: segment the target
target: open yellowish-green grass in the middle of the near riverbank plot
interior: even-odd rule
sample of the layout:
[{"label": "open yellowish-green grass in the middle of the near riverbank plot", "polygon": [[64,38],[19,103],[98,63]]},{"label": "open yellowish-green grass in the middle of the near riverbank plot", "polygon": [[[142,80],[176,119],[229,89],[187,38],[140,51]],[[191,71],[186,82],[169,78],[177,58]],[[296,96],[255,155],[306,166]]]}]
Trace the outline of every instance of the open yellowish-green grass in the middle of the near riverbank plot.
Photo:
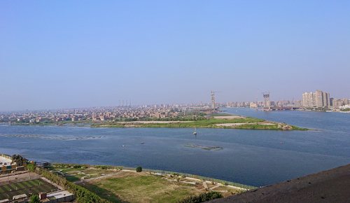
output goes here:
[{"label": "open yellowish-green grass in the middle of the near riverbank plot", "polygon": [[[205,192],[201,184],[169,181],[146,172],[123,172],[107,179],[85,182],[82,186],[111,202],[179,202]],[[235,192],[237,190],[232,189],[228,194]]]}]

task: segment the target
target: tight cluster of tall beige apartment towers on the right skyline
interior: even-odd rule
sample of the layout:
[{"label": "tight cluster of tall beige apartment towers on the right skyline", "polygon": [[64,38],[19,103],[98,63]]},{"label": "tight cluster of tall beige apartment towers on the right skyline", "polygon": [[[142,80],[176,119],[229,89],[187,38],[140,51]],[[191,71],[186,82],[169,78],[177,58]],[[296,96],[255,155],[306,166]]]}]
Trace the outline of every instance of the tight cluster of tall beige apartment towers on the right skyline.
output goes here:
[{"label": "tight cluster of tall beige apartment towers on the right skyline", "polygon": [[302,106],[329,107],[330,94],[321,90],[316,90],[316,92],[304,92],[304,94],[302,94]]}]

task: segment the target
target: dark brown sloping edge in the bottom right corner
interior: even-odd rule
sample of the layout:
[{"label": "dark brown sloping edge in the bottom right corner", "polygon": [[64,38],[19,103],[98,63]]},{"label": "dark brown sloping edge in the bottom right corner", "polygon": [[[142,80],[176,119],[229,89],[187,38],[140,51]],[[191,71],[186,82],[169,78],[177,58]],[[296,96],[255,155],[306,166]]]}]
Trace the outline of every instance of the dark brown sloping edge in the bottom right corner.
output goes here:
[{"label": "dark brown sloping edge in the bottom right corner", "polygon": [[350,165],[232,195],[226,202],[350,202]]}]

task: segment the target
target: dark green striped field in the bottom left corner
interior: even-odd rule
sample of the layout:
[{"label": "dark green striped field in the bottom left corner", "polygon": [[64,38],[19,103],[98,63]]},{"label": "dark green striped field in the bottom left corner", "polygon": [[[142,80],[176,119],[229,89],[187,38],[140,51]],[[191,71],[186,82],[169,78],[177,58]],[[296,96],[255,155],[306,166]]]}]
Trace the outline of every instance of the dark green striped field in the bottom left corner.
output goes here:
[{"label": "dark green striped field in the bottom left corner", "polygon": [[48,193],[52,192],[52,190],[57,190],[57,188],[41,179],[22,181],[19,183],[10,183],[7,185],[0,186],[0,200],[12,200],[12,197],[15,195],[29,195],[30,193],[38,194],[40,192]]}]

